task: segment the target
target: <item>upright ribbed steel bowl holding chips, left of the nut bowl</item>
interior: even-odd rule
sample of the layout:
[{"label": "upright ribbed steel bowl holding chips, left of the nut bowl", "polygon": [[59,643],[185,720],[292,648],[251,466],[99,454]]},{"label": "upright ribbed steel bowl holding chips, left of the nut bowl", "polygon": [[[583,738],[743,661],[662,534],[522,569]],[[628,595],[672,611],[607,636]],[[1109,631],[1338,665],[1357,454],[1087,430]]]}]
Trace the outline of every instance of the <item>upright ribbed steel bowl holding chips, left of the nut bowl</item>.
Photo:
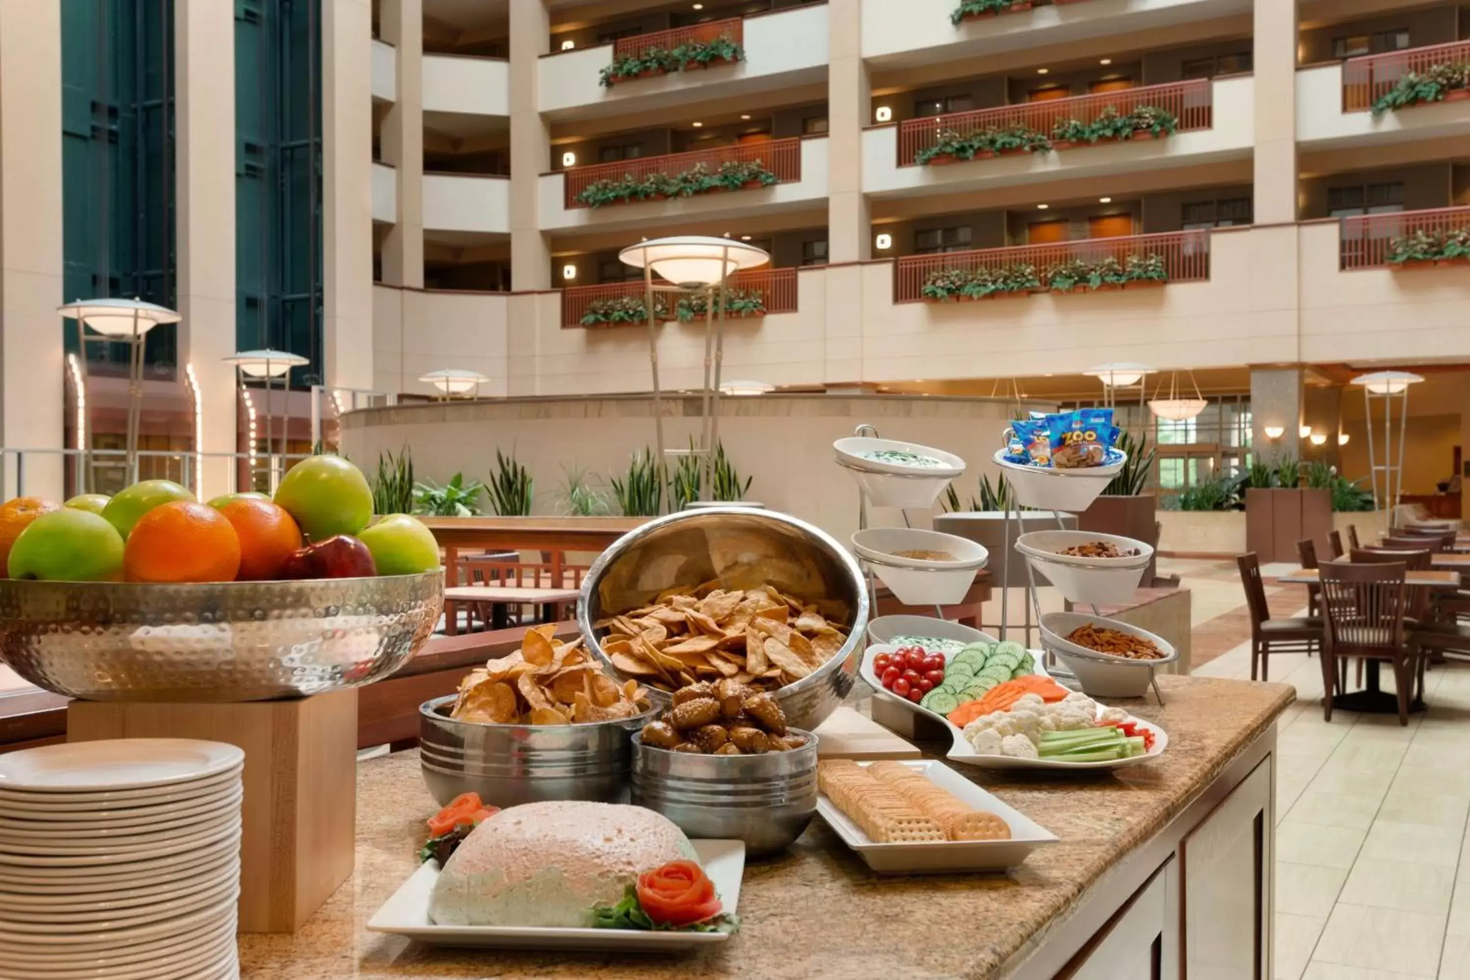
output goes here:
[{"label": "upright ribbed steel bowl holding chips, left of the nut bowl", "polygon": [[441,807],[472,790],[494,807],[628,802],[632,735],[657,710],[622,721],[485,724],[451,718],[454,698],[419,707],[419,764]]}]

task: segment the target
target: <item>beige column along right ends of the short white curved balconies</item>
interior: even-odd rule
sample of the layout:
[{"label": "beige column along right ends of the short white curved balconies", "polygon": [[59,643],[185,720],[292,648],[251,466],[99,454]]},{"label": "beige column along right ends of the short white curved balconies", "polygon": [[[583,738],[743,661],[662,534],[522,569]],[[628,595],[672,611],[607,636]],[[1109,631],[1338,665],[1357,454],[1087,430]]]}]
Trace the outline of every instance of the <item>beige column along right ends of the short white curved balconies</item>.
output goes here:
[{"label": "beige column along right ends of the short white curved balconies", "polygon": [[510,284],[551,288],[551,253],[537,215],[537,187],[551,166],[551,131],[537,106],[539,56],[551,46],[542,0],[510,0]]}]

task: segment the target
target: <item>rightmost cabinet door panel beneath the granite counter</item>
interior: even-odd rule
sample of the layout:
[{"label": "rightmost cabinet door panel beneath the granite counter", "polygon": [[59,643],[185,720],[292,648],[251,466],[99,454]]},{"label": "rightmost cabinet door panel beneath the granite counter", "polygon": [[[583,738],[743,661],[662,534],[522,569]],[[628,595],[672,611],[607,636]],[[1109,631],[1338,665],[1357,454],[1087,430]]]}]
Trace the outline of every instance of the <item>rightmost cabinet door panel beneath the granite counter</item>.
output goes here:
[{"label": "rightmost cabinet door panel beneath the granite counter", "polygon": [[1272,757],[1179,845],[1183,873],[1183,977],[1269,979]]}]

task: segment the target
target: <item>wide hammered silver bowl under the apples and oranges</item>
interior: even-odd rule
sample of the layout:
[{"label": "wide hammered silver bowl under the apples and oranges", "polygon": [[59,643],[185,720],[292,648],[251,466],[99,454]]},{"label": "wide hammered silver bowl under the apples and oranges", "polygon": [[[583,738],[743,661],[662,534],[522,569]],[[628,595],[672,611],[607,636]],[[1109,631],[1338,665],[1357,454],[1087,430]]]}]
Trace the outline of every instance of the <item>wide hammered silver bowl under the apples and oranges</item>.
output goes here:
[{"label": "wide hammered silver bowl under the apples and oranges", "polygon": [[295,698],[387,677],[442,608],[442,572],[203,585],[0,579],[0,660],[87,701]]}]

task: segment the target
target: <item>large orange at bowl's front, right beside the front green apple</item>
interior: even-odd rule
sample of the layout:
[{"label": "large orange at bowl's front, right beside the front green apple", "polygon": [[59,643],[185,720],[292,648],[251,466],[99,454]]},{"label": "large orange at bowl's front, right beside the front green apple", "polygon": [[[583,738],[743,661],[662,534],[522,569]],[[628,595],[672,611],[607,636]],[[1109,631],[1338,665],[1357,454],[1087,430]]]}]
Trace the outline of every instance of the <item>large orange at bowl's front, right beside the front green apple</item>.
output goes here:
[{"label": "large orange at bowl's front, right beside the front green apple", "polygon": [[128,582],[234,582],[240,536],[209,504],[176,500],[146,513],[122,552]]}]

